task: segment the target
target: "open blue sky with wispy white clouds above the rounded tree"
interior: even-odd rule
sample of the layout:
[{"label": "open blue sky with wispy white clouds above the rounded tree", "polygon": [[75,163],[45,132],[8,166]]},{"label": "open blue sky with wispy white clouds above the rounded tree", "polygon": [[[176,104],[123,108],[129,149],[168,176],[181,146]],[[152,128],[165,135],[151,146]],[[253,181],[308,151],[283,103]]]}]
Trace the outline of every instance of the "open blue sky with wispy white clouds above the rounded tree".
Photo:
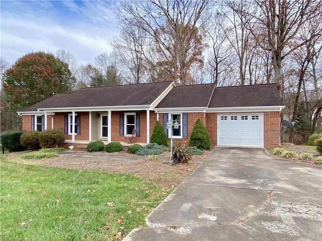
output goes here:
[{"label": "open blue sky with wispy white clouds above the rounded tree", "polygon": [[1,57],[11,64],[29,52],[68,50],[78,64],[93,63],[111,52],[117,35],[117,1],[4,1],[1,9]]}]

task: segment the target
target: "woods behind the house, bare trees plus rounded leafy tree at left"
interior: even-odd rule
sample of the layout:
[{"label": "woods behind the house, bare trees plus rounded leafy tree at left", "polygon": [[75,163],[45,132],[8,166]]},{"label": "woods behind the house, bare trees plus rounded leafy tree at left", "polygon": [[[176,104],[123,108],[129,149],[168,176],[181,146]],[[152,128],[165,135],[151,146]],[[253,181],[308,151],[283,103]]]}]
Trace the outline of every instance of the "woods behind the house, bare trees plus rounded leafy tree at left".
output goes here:
[{"label": "woods behind the house, bare trees plus rounded leafy tree at left", "polygon": [[[60,63],[56,69],[37,62],[22,65],[29,54],[13,65],[1,59],[1,132],[20,127],[18,109],[81,87],[169,80],[177,85],[276,83],[286,105],[284,118],[295,123],[282,141],[306,141],[322,131],[321,11],[320,1],[306,0],[121,1],[119,34],[108,40],[113,51],[102,52],[94,63],[79,65],[64,49],[50,54]],[[66,88],[52,91],[57,81],[35,77],[39,69],[62,74],[58,79]]]}]

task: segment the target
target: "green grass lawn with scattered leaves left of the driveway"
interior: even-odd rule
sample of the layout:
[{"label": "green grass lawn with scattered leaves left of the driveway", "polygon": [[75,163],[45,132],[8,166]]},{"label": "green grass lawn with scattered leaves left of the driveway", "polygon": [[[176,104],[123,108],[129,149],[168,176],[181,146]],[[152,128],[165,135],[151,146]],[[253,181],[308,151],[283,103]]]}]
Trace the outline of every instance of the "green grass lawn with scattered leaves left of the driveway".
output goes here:
[{"label": "green grass lawn with scattered leaves left of the driveway", "polygon": [[1,158],[0,240],[115,240],[145,226],[169,192],[133,175]]}]

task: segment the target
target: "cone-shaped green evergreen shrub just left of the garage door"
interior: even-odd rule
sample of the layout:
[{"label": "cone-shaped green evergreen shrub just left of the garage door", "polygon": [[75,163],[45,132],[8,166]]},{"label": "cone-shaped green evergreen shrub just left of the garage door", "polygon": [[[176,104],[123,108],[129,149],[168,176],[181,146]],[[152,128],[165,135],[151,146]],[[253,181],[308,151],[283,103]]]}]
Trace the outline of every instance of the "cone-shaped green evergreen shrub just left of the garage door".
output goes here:
[{"label": "cone-shaped green evergreen shrub just left of the garage door", "polygon": [[210,149],[210,137],[208,131],[199,118],[191,132],[189,146],[197,147],[200,150]]}]

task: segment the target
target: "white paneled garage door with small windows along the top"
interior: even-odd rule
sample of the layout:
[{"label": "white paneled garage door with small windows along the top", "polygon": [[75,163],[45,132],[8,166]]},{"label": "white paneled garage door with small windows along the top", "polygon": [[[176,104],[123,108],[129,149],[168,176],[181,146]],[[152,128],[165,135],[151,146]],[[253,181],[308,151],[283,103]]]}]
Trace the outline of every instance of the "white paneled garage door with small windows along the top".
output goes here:
[{"label": "white paneled garage door with small windows along the top", "polygon": [[218,114],[218,146],[264,147],[263,114]]}]

